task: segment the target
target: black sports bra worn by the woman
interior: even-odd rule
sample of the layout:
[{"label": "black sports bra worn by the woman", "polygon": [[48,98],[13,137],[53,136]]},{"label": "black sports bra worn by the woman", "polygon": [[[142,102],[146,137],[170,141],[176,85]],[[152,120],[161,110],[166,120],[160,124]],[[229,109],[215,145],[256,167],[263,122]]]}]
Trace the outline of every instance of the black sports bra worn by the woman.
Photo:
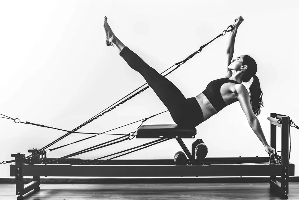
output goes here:
[{"label": "black sports bra worn by the woman", "polygon": [[228,77],[225,77],[222,79],[211,81],[207,85],[207,89],[205,89],[205,91],[202,92],[203,94],[205,94],[205,96],[208,98],[208,100],[217,112],[219,112],[220,110],[225,108],[225,106],[227,106],[221,96],[220,88],[224,83],[228,82],[239,84],[237,81],[230,80]]}]

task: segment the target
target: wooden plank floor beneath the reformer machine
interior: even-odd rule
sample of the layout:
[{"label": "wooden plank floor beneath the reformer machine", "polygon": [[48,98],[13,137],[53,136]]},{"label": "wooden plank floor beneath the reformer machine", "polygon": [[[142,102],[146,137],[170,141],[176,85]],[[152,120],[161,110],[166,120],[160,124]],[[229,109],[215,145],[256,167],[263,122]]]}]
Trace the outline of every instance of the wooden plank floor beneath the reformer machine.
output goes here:
[{"label": "wooden plank floor beneath the reformer machine", "polygon": [[[281,199],[270,194],[269,183],[192,184],[41,184],[31,200],[79,199]],[[16,199],[15,184],[0,184],[0,199]],[[289,183],[289,199],[299,200],[299,183]]]}]

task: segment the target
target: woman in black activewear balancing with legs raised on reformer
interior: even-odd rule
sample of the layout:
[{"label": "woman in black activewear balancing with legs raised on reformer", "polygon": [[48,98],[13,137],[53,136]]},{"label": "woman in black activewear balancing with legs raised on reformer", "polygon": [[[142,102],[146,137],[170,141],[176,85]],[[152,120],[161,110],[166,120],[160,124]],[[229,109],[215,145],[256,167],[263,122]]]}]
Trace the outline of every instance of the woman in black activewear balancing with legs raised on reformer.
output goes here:
[{"label": "woman in black activewear balancing with legs raised on reformer", "polygon": [[[108,25],[106,16],[103,26],[106,34],[106,45],[113,46],[129,66],[144,77],[149,86],[168,108],[176,124],[196,127],[225,106],[239,101],[252,130],[263,143],[266,152],[271,154],[271,152],[275,152],[275,149],[268,145],[256,117],[256,115],[260,114],[260,107],[263,106],[263,93],[259,79],[255,75],[257,64],[249,55],[240,55],[237,59],[232,59],[237,29],[243,20],[241,16],[234,20],[234,30],[231,31],[228,39],[226,76],[210,82],[205,91],[196,97],[188,99],[184,97],[172,82],[152,67],[149,67],[115,36]],[[249,96],[247,89],[241,83],[248,82],[252,77],[254,80],[249,89]]]}]

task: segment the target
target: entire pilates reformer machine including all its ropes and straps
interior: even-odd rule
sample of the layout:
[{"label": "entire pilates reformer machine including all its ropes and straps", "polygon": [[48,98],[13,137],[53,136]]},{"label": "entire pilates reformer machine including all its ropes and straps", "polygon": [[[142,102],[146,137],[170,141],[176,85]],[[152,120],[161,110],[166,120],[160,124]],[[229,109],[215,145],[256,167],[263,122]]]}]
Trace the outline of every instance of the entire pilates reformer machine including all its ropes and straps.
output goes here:
[{"label": "entire pilates reformer machine including all its ropes and straps", "polygon": [[[231,29],[229,29],[231,28]],[[216,38],[225,35],[226,32],[229,32],[233,29],[233,26],[230,25],[226,30],[219,34]],[[214,38],[213,40],[215,40]],[[189,55],[188,58],[176,63],[176,68],[169,73],[176,70],[180,67],[181,64],[184,64],[190,58],[192,58],[197,53],[201,52],[202,49],[211,43],[213,40],[207,44],[200,46],[200,49],[193,54]],[[173,65],[173,66],[175,66]],[[172,67],[173,67],[172,66]],[[171,68],[171,67],[170,67]],[[169,70],[168,68],[167,70]],[[166,72],[165,70],[164,72]],[[162,72],[162,73],[164,73]],[[162,74],[161,73],[161,74]],[[144,84],[146,85],[146,84]],[[144,86],[142,85],[142,86]],[[142,87],[141,86],[141,87]],[[139,87],[139,88],[141,88]],[[137,88],[135,91],[138,91]],[[88,121],[84,122],[77,128],[68,131],[54,127],[48,127],[41,124],[34,124],[28,121],[22,121],[18,118],[11,118],[6,115],[4,117],[10,120],[14,120],[15,123],[21,124],[30,124],[39,127],[51,128],[61,131],[66,131],[67,133],[50,144],[46,145],[43,148],[30,149],[28,150],[31,153],[29,156],[25,156],[22,153],[12,154],[11,156],[15,158],[10,161],[3,161],[0,164],[13,163],[10,165],[10,176],[15,177],[16,179],[16,195],[17,199],[24,199],[24,195],[30,192],[31,190],[38,191],[40,190],[40,177],[42,176],[79,176],[79,177],[227,177],[227,176],[269,176],[270,177],[270,190],[277,194],[278,196],[283,196],[287,198],[289,194],[289,176],[294,176],[295,166],[292,163],[289,163],[289,127],[299,127],[286,115],[280,115],[276,113],[271,113],[268,120],[270,121],[270,146],[276,149],[276,127],[281,128],[281,156],[271,154],[269,157],[219,157],[219,158],[210,158],[206,157],[208,154],[208,148],[201,139],[197,139],[193,142],[191,146],[191,152],[188,150],[182,139],[195,139],[196,128],[195,127],[182,127],[178,125],[143,125],[149,118],[152,118],[156,115],[160,115],[164,112],[161,112],[156,115],[144,118],[141,125],[137,128],[136,131],[129,134],[123,135],[117,139],[113,139],[108,142],[103,142],[99,145],[95,145],[90,148],[86,148],[80,151],[77,151],[73,154],[63,156],[60,158],[49,158],[47,154],[51,151],[54,151],[58,148],[62,148],[77,142],[81,142],[86,139],[93,138],[103,133],[88,133],[94,134],[91,137],[81,139],[70,144],[66,144],[60,147],[53,149],[48,149],[50,146],[54,145],[56,142],[62,140],[66,136],[69,136],[72,133],[77,132],[80,128],[89,124],[90,122],[96,120],[97,118],[103,116],[104,114],[116,109],[117,106],[125,103],[136,95],[148,89],[149,86],[141,89],[137,93],[133,94],[135,91],[128,94],[126,97],[123,97],[118,102],[112,104],[108,108],[104,109],[99,114],[90,118]],[[131,95],[133,94],[133,95]],[[131,96],[129,96],[131,95]],[[129,96],[129,97],[128,97]],[[127,98],[128,97],[128,98]],[[2,114],[0,114],[2,115]],[[136,123],[135,121],[133,123]],[[133,124],[130,123],[130,124]],[[127,124],[129,125],[129,124]],[[125,126],[127,126],[125,125]],[[121,126],[124,127],[124,126]],[[121,128],[118,127],[118,128]],[[115,129],[118,129],[115,128]],[[112,129],[112,130],[115,130]],[[110,130],[111,131],[111,130]],[[112,134],[120,135],[120,134]],[[120,151],[114,154],[96,158],[93,160],[83,160],[79,158],[70,158],[77,156],[89,151],[97,150],[112,144],[117,144],[125,140],[131,140],[134,138],[147,138],[147,139],[156,139],[152,142],[130,148],[124,151]],[[144,148],[148,148],[152,145],[165,142],[170,139],[176,139],[179,145],[182,148],[182,151],[177,152],[174,155],[174,159],[169,160],[118,160],[115,158],[121,157],[123,155],[139,151]],[[127,152],[129,151],[129,152]],[[124,153],[126,152],[126,153]],[[124,154],[122,154],[124,153]],[[117,155],[117,156],[115,156]],[[112,157],[115,156],[115,157]],[[103,160],[103,158],[111,157],[109,159]],[[115,159],[115,160],[114,160]],[[24,186],[24,176],[33,177],[33,181]],[[277,176],[281,177],[281,181],[277,180]]]}]

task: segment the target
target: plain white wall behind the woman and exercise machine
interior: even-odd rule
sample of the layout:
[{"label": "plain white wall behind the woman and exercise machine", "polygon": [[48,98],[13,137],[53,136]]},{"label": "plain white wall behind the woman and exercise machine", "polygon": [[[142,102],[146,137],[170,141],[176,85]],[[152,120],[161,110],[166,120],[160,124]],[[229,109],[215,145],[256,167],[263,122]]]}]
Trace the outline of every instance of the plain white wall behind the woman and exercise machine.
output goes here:
[{"label": "plain white wall behind the woman and exercise machine", "polygon": [[[292,2],[292,3],[291,3]],[[0,113],[13,118],[72,130],[145,81],[112,47],[105,46],[104,16],[118,38],[162,72],[185,59],[234,22],[239,27],[234,58],[251,55],[258,64],[264,106],[258,116],[269,142],[270,112],[289,115],[299,124],[298,4],[295,1],[1,1]],[[225,76],[228,35],[167,76],[182,93],[195,97],[208,82]],[[249,88],[248,84],[245,84]],[[80,129],[101,133],[167,110],[152,89]],[[174,124],[169,112],[144,124]],[[126,134],[140,123],[112,131]],[[227,106],[197,128],[196,139],[208,145],[208,157],[266,157],[262,143],[248,126],[239,103]],[[15,124],[0,118],[0,160],[30,148],[42,148],[65,132]],[[277,129],[280,133],[280,129]],[[90,135],[71,134],[57,147]],[[53,151],[61,157],[117,136],[97,136]],[[277,135],[280,151],[280,135]],[[299,130],[292,128],[295,175],[299,173]],[[134,147],[151,139],[134,139],[82,154],[93,159]],[[191,148],[194,140],[185,139]],[[181,151],[167,141],[123,159],[171,159]],[[0,165],[9,177],[9,165]]]}]

